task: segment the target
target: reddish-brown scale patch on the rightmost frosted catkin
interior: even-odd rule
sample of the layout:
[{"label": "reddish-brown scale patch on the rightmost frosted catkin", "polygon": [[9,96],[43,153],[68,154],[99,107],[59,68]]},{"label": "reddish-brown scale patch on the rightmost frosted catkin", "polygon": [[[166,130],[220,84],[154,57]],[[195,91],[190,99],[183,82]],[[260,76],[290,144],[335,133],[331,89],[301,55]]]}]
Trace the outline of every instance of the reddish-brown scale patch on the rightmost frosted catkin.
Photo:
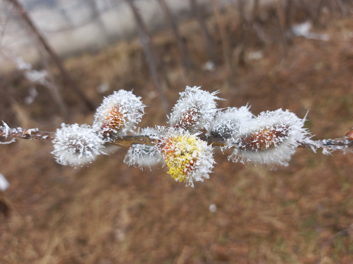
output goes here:
[{"label": "reddish-brown scale patch on the rightmost frosted catkin", "polygon": [[264,150],[275,146],[288,137],[289,129],[286,126],[275,126],[273,129],[265,129],[246,135],[241,138],[241,149]]}]

